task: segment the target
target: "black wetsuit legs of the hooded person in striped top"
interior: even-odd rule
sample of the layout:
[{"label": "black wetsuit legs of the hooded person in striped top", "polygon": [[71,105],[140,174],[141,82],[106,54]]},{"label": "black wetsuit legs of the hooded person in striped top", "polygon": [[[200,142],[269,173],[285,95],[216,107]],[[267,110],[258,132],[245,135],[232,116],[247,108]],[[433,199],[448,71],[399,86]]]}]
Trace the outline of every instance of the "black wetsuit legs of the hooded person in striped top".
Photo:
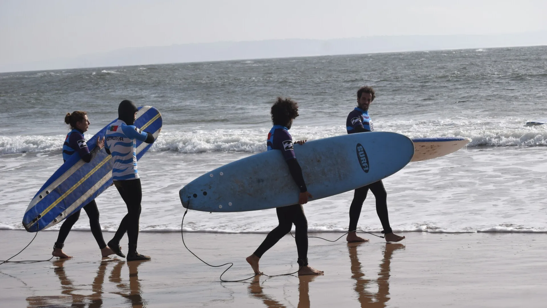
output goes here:
[{"label": "black wetsuit legs of the hooded person in striped top", "polygon": [[141,179],[114,181],[114,185],[118,189],[120,196],[124,199],[127,206],[127,214],[121,220],[118,231],[112,239],[115,242],[120,242],[120,239],[127,232],[129,239],[129,247],[137,247],[138,225],[141,217]]}]

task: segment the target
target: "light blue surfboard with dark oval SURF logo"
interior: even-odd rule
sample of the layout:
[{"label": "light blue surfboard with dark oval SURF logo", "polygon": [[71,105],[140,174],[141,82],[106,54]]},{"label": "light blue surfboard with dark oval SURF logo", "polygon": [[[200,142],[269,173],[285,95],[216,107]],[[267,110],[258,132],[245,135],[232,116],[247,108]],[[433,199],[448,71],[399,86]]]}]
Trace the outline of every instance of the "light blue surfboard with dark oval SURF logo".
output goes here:
[{"label": "light blue surfboard with dark oval SURF logo", "polygon": [[[399,171],[414,155],[400,134],[369,132],[294,144],[310,201],[371,184]],[[182,205],[205,212],[243,212],[298,203],[299,189],[280,150],[231,162],[179,191]]]}]

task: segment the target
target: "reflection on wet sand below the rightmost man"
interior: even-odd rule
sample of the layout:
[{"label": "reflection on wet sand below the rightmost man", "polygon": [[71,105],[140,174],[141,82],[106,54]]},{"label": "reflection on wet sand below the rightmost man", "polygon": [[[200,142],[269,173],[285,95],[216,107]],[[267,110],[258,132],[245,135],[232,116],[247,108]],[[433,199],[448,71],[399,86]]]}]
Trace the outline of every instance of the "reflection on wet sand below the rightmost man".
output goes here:
[{"label": "reflection on wet sand below the rightmost man", "polygon": [[[357,256],[357,247],[361,243],[348,243],[347,248],[350,252],[350,261],[351,261],[351,273],[353,274],[351,278],[356,280],[355,282],[355,291],[357,292],[359,303],[361,307],[386,307],[386,303],[389,300],[389,264],[391,263],[392,253],[397,250],[404,248],[403,244],[399,243],[386,243],[386,248],[383,252],[383,260],[380,264],[380,271],[378,272],[378,277],[374,279],[366,279],[365,274],[362,271],[361,263]],[[367,290],[367,287],[370,287],[371,282],[376,282],[378,285],[378,292],[372,293]]]}]

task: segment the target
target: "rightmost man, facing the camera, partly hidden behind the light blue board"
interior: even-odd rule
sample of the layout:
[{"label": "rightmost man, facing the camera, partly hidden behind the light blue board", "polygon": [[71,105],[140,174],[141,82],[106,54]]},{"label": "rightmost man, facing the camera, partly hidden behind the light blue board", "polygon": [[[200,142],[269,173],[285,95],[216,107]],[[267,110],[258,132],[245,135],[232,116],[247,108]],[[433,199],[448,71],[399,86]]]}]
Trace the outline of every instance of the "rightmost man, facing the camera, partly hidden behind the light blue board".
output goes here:
[{"label": "rightmost man, facing the camera, partly hidden behind the light blue board", "polygon": [[[369,106],[376,98],[374,89],[369,86],[361,87],[357,91],[357,107],[350,112],[346,119],[346,129],[348,134],[372,132],[374,130],[373,122],[369,116]],[[373,192],[376,198],[376,213],[382,223],[386,242],[399,242],[404,236],[398,236],[393,233],[389,226],[389,218],[387,214],[387,193],[383,187],[382,180],[374,182],[355,190],[353,200],[350,206],[350,228],[347,234],[346,241],[348,242],[368,242],[368,239],[357,236],[357,221],[361,214],[361,208],[366,198],[366,193]]]}]

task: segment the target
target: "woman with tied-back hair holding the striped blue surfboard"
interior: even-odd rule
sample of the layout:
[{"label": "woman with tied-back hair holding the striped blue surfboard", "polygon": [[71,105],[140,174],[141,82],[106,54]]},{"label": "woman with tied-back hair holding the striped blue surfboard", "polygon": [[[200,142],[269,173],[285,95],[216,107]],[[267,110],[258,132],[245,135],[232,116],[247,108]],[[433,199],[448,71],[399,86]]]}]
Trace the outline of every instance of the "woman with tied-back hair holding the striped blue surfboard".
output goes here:
[{"label": "woman with tied-back hair holding the striped blue surfboard", "polygon": [[[66,162],[68,158],[75,153],[78,153],[84,162],[91,162],[97,153],[104,147],[104,139],[97,137],[97,145],[95,146],[95,149],[89,151],[88,145],[85,143],[84,138],[84,133],[87,132],[89,124],[91,124],[89,122],[87,112],[74,111],[72,113],[67,113],[65,116],[65,123],[69,124],[72,130],[68,132],[65,139],[65,144],[63,145],[63,161]],[[88,214],[91,233],[93,233],[93,236],[101,249],[101,255],[108,256],[114,254],[112,249],[108,248],[106,243],[104,243],[101,225],[99,224],[99,210],[97,209],[97,203],[95,203],[95,200],[86,204],[86,206],[84,206],[84,210],[85,213]],[[71,256],[64,253],[62,249],[65,246],[65,239],[68,236],[68,232],[70,232],[72,226],[80,217],[80,211],[81,209],[79,209],[78,212],[72,213],[72,215],[68,216],[65,221],[63,221],[61,229],[59,230],[57,242],[55,242],[55,245],[53,246],[53,252],[51,253],[53,256],[57,256],[59,258],[71,258]]]}]

